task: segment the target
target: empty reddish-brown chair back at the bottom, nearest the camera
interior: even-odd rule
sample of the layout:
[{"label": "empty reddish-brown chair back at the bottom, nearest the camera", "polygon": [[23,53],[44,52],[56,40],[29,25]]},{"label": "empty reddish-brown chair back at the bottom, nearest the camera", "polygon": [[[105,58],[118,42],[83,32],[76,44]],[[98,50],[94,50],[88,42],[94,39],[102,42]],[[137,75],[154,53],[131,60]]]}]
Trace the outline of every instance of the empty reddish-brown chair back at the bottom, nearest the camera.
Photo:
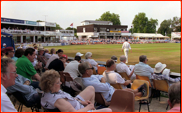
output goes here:
[{"label": "empty reddish-brown chair back at the bottom, nearest the camera", "polygon": [[134,112],[134,93],[126,90],[115,90],[109,108],[112,109],[112,112]]}]

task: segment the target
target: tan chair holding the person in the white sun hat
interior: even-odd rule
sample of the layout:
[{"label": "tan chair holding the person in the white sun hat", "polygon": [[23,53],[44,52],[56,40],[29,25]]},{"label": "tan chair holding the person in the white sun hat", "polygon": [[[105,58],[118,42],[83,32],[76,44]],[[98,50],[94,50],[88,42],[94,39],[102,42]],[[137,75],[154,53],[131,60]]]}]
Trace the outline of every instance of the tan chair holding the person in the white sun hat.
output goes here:
[{"label": "tan chair holding the person in the white sun hat", "polygon": [[[156,90],[159,91],[159,101],[160,101],[160,91],[167,92],[169,89],[169,85],[166,80],[155,80],[153,79],[153,86]],[[169,104],[166,107],[166,110],[168,109]]]}]

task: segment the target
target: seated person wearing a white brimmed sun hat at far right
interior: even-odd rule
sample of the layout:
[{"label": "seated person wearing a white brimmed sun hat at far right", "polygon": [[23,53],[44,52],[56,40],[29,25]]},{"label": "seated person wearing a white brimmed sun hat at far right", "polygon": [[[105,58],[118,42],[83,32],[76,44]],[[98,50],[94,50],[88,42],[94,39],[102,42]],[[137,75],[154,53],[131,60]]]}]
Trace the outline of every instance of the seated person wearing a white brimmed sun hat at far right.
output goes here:
[{"label": "seated person wearing a white brimmed sun hat at far right", "polygon": [[151,79],[166,80],[169,86],[171,86],[172,83],[179,82],[181,80],[181,77],[171,78],[170,69],[165,69],[165,68],[166,68],[166,64],[162,64],[161,62],[158,62],[155,65],[154,74],[152,75]]}]

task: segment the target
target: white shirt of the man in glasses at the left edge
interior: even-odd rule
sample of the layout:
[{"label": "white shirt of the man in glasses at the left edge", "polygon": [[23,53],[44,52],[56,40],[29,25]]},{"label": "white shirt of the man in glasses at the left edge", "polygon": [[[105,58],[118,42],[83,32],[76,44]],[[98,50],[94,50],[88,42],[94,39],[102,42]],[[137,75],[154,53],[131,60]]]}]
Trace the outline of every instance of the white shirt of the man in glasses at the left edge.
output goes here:
[{"label": "white shirt of the man in glasses at the left edge", "polygon": [[6,92],[6,88],[1,84],[1,111],[17,112]]}]

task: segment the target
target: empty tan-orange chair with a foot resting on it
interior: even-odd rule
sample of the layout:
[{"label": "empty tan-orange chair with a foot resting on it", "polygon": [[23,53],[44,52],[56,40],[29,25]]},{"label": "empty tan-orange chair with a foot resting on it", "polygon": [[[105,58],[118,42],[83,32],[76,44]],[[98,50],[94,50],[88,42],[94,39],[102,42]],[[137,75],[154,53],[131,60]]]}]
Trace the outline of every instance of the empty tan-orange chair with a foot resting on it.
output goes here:
[{"label": "empty tan-orange chair with a foot resting on it", "polygon": [[[135,96],[135,100],[136,101],[139,101],[139,112],[140,112],[140,109],[141,109],[141,105],[142,104],[147,104],[147,107],[148,107],[148,112],[150,112],[150,109],[149,109],[149,101],[147,100],[149,98],[149,82],[146,81],[146,80],[139,80],[139,79],[135,79],[133,81],[133,84],[131,86],[131,89],[135,90],[137,89],[139,86],[143,85],[144,83],[147,84],[147,87],[148,87],[148,90],[147,90],[147,96],[145,97],[138,97],[138,96]],[[144,102],[144,103],[142,103]]]}]

